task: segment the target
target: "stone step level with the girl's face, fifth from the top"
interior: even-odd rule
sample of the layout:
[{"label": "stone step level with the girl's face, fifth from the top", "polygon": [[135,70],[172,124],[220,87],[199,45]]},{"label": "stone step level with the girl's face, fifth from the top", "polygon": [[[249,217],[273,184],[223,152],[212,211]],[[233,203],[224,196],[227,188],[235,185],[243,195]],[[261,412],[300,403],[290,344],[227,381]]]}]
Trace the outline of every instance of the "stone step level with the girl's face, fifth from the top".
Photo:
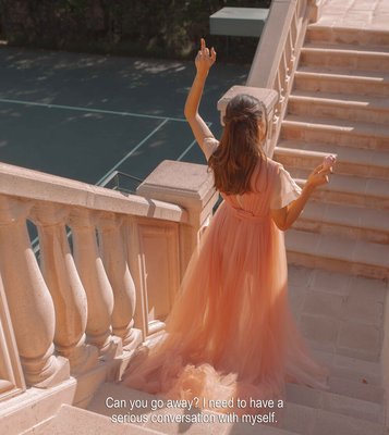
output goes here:
[{"label": "stone step level with the girl's face, fifth from the top", "polygon": [[280,139],[389,150],[389,127],[361,122],[287,115]]}]

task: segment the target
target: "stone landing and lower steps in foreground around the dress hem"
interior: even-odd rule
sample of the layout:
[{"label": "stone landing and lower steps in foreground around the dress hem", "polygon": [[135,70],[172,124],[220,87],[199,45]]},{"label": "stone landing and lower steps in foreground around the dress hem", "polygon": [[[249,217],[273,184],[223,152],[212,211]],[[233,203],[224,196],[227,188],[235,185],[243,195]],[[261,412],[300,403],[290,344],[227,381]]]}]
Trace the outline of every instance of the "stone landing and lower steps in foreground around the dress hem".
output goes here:
[{"label": "stone landing and lower steps in foreground around the dress hem", "polygon": [[[166,405],[153,411],[149,405],[155,396],[105,383],[87,410],[62,406],[52,419],[23,435],[385,435],[379,355],[387,283],[301,266],[290,266],[289,276],[294,315],[314,357],[329,369],[330,377],[329,390],[288,384],[284,409],[277,411],[277,426],[219,422],[215,412],[197,414]],[[107,398],[111,399],[107,402]],[[113,400],[118,403],[114,407]],[[139,406],[131,410],[130,400],[138,400]],[[187,414],[198,419],[196,423],[179,422]],[[161,423],[163,415],[177,421]]]}]

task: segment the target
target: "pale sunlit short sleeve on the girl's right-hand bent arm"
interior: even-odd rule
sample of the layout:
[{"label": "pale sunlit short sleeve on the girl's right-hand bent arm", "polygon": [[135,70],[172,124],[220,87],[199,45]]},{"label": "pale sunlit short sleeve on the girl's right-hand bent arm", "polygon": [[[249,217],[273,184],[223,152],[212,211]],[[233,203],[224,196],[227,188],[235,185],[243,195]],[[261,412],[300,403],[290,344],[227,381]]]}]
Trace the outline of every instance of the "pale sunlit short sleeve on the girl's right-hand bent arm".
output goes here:
[{"label": "pale sunlit short sleeve on the girl's right-hand bent arm", "polygon": [[270,209],[278,210],[287,207],[289,203],[297,199],[301,195],[301,187],[291,177],[290,173],[282,166],[278,165],[278,174],[275,177],[273,188],[270,198]]}]

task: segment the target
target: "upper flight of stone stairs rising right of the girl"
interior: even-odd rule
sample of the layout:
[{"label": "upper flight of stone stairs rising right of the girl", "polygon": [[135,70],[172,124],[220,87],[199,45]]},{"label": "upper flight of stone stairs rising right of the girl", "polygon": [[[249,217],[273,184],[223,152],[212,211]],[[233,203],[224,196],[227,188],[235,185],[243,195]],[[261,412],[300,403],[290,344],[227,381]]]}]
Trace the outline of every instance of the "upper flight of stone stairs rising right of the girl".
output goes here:
[{"label": "upper flight of stone stairs rising right of the girl", "polygon": [[389,32],[308,26],[275,158],[300,184],[338,163],[287,236],[294,264],[389,275],[388,66]]}]

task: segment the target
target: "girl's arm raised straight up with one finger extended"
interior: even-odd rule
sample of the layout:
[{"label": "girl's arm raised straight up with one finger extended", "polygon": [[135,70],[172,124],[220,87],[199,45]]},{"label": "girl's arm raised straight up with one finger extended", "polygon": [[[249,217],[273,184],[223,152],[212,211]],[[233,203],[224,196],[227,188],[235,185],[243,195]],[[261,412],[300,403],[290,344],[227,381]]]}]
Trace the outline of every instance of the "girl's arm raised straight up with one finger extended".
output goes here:
[{"label": "girl's arm raised straight up with one finger extended", "polygon": [[198,107],[202,100],[205,80],[215,61],[216,51],[214,50],[214,48],[211,48],[209,51],[209,49],[205,46],[205,40],[202,38],[200,50],[198,51],[195,60],[197,72],[190,94],[186,98],[184,114],[187,122],[190,123],[194,137],[196,138],[198,145],[204,152],[204,139],[208,137],[212,138],[214,135],[199,115]]}]

